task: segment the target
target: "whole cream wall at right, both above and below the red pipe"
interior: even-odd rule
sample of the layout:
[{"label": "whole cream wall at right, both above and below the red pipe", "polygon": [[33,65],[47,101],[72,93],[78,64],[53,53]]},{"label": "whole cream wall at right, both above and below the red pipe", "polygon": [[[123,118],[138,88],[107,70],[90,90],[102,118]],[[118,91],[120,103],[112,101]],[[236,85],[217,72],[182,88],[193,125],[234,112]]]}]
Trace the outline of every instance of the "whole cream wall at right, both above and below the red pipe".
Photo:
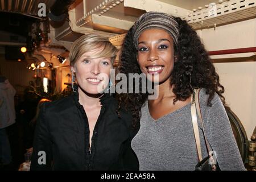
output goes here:
[{"label": "whole cream wall at right, both above and below the red pipe", "polygon": [[[256,18],[197,30],[207,51],[256,47]],[[212,59],[250,57],[255,53],[211,56]],[[238,59],[238,58],[237,58]],[[249,59],[248,59],[249,60]],[[215,63],[227,103],[240,118],[250,139],[256,126],[256,62]]]}]

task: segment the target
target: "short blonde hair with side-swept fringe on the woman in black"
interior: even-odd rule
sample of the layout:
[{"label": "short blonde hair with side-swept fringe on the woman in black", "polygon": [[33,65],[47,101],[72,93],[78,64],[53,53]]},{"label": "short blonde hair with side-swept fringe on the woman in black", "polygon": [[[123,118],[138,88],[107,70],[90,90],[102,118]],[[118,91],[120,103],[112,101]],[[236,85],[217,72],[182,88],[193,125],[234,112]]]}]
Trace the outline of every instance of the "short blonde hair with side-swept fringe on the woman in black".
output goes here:
[{"label": "short blonde hair with side-swept fringe on the woman in black", "polygon": [[94,49],[102,49],[102,51],[99,51],[96,55],[90,55],[88,59],[108,57],[111,58],[113,64],[118,49],[104,36],[98,34],[86,34],[82,35],[72,44],[69,53],[70,65],[74,66],[76,61],[80,59],[85,52],[93,51]]}]

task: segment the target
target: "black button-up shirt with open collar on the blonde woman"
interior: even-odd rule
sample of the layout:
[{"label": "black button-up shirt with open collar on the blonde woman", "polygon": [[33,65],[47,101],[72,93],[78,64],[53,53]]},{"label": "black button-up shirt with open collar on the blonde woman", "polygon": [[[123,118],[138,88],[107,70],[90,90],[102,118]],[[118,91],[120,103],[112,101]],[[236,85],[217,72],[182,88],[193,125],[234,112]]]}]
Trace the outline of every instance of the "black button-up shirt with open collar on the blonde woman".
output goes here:
[{"label": "black button-up shirt with open collar on the blonde woman", "polygon": [[[89,150],[89,123],[78,93],[42,106],[36,121],[31,170],[137,170],[131,149],[137,133],[132,117],[109,94],[100,98],[101,111]],[[42,152],[43,151],[43,152]]]}]

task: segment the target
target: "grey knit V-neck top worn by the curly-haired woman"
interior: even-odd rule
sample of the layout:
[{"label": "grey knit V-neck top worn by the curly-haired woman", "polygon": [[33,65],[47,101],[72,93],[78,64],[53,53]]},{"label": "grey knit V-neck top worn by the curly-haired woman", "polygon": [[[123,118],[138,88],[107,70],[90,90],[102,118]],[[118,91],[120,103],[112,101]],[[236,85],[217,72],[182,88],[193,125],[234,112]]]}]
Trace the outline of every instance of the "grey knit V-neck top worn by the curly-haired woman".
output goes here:
[{"label": "grey knit V-neck top worn by the curly-haired woman", "polygon": [[[232,133],[228,115],[220,97],[214,94],[212,107],[207,106],[208,95],[201,89],[199,95],[205,135],[216,152],[221,170],[245,170]],[[173,113],[153,119],[148,102],[141,110],[141,128],[131,142],[139,160],[140,170],[195,170],[198,162],[193,134],[191,104]],[[207,156],[199,117],[199,134],[203,158]]]}]

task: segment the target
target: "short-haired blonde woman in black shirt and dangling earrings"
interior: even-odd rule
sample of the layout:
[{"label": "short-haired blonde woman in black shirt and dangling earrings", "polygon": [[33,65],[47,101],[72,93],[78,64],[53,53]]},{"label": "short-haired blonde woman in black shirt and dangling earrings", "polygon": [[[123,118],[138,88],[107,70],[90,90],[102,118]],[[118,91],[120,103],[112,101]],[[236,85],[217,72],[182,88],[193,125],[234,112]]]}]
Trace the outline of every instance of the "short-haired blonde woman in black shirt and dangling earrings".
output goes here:
[{"label": "short-haired blonde woman in black shirt and dangling earrings", "polygon": [[43,104],[31,170],[138,169],[130,147],[132,117],[123,110],[116,113],[115,98],[102,93],[116,53],[107,38],[96,34],[73,43],[69,60],[77,87],[72,84],[72,96]]}]

